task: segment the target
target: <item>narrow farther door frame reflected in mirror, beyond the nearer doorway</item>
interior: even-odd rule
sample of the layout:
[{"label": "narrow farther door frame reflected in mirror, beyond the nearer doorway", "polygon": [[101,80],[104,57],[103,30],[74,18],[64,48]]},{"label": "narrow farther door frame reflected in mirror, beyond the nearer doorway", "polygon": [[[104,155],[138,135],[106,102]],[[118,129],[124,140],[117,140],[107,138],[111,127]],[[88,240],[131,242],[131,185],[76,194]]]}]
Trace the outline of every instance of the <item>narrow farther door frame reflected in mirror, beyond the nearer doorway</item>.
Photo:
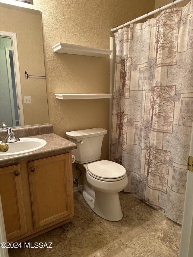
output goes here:
[{"label": "narrow farther door frame reflected in mirror, beyond the nearer doorway", "polygon": [[12,113],[13,126],[15,127],[16,126],[15,108],[14,108],[14,99],[13,99],[13,85],[12,85],[12,79],[11,79],[11,65],[10,65],[10,59],[9,59],[9,51],[12,51],[12,47],[5,46],[5,55],[6,55],[6,62],[7,62],[8,81],[9,81],[9,93],[10,93],[10,101],[11,101],[11,113]]}]

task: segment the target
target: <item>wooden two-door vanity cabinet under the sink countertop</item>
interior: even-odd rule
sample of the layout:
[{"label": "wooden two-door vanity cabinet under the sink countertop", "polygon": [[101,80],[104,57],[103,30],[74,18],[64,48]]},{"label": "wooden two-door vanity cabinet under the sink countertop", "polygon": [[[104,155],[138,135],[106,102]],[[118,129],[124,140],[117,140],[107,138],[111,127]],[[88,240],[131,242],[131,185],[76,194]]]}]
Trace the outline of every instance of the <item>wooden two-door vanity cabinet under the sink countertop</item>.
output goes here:
[{"label": "wooden two-door vanity cabinet under the sink countertop", "polygon": [[71,151],[1,166],[0,194],[9,242],[67,223],[74,216]]}]

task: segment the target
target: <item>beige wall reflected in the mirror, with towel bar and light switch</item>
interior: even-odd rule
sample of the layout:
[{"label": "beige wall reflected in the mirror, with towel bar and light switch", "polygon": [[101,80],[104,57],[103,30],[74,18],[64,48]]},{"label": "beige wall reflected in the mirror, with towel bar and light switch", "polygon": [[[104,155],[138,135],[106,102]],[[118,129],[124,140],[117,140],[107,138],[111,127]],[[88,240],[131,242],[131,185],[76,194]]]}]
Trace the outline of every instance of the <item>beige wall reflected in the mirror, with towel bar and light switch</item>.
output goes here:
[{"label": "beige wall reflected in the mirror, with towel bar and light switch", "polygon": [[[41,16],[8,8],[0,14],[0,30],[17,33],[25,125],[49,123],[45,78],[26,80],[24,73],[45,74]],[[24,96],[31,96],[31,103],[25,104]]]}]

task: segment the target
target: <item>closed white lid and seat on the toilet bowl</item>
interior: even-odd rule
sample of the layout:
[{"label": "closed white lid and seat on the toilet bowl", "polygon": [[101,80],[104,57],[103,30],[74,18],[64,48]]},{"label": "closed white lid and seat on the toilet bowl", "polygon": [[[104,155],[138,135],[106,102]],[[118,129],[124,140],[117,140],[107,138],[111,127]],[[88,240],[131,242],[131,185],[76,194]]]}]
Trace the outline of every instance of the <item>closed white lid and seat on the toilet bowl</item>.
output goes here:
[{"label": "closed white lid and seat on the toilet bowl", "polygon": [[123,166],[107,160],[89,163],[87,169],[93,176],[106,179],[123,177],[126,173]]}]

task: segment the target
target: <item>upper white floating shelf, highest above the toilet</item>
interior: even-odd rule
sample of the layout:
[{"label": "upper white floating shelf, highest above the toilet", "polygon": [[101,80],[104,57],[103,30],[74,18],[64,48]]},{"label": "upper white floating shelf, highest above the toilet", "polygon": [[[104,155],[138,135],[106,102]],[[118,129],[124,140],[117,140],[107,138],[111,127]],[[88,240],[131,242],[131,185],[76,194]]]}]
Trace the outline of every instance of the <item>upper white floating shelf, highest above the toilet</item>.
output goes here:
[{"label": "upper white floating shelf, highest above the toilet", "polygon": [[72,45],[66,43],[58,43],[52,46],[52,49],[56,53],[71,54],[71,55],[86,55],[95,57],[104,57],[111,55],[112,50],[88,47],[84,45]]}]

